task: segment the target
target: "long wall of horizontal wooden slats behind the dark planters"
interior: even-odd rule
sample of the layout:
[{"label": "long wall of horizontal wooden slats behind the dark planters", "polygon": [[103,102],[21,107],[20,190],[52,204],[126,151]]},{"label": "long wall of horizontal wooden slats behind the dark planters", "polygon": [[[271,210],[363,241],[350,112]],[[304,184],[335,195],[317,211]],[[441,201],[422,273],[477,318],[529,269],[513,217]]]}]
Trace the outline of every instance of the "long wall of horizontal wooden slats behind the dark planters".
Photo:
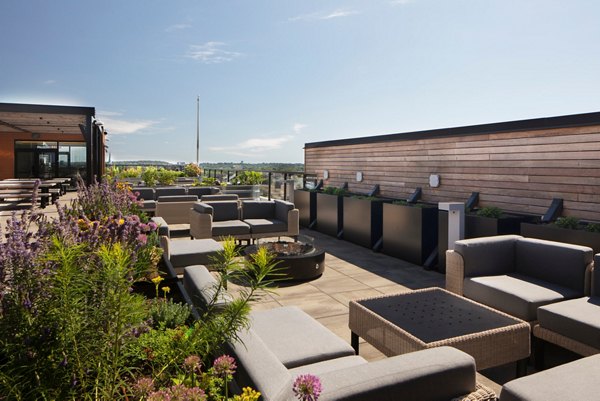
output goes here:
[{"label": "long wall of horizontal wooden slats behind the dark planters", "polygon": [[[325,185],[405,199],[416,187],[428,202],[466,201],[542,215],[552,198],[565,216],[600,221],[600,125],[418,140],[307,147],[305,171]],[[356,172],[363,182],[356,182]],[[441,185],[429,187],[429,175]]]}]

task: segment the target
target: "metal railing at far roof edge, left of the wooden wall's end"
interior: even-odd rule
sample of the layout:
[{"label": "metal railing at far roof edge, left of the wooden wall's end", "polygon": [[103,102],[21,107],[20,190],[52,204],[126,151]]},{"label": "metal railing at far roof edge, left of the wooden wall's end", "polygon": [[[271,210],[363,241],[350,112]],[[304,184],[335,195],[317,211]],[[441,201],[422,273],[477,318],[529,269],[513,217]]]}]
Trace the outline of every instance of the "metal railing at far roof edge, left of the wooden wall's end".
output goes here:
[{"label": "metal railing at far roof edge, left of the wooden wall's end", "polygon": [[286,182],[294,180],[294,189],[305,188],[307,182],[316,182],[315,174],[307,174],[301,171],[260,171],[260,170],[225,170],[204,169],[204,177],[211,177],[221,183],[229,183],[242,171],[258,171],[263,174],[265,181],[261,184],[261,195],[271,199],[288,199]]}]

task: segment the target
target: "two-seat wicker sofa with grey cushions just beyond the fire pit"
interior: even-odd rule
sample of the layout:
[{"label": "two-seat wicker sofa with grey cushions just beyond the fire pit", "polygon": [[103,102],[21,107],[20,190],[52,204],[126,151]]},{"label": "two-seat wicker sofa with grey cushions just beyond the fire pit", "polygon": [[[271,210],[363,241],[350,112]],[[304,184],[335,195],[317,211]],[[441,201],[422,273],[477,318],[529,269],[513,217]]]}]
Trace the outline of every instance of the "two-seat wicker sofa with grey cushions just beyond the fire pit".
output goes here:
[{"label": "two-seat wicker sofa with grey cushions just beyond the fire pit", "polygon": [[258,239],[299,233],[298,209],[282,200],[198,202],[189,212],[193,238]]}]

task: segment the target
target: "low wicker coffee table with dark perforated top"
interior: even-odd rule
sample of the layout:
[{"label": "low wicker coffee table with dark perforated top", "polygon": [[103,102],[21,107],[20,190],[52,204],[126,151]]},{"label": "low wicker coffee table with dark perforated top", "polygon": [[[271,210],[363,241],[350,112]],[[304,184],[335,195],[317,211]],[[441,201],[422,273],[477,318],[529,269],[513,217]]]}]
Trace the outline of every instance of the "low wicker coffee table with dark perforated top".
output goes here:
[{"label": "low wicker coffee table with dark perforated top", "polygon": [[358,338],[387,356],[444,345],[475,358],[477,370],[517,364],[530,354],[527,322],[441,288],[350,301],[352,346]]}]

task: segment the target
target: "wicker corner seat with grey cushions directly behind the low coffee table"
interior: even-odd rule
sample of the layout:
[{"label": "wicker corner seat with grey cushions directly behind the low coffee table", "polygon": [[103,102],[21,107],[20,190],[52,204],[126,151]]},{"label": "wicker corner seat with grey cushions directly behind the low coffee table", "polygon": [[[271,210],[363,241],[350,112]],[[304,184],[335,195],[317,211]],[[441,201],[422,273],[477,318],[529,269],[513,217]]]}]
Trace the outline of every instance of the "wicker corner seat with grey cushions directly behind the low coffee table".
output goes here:
[{"label": "wicker corner seat with grey cushions directly behind the low coffee table", "polygon": [[589,294],[591,248],[519,235],[456,241],[446,289],[528,322],[540,306]]}]

